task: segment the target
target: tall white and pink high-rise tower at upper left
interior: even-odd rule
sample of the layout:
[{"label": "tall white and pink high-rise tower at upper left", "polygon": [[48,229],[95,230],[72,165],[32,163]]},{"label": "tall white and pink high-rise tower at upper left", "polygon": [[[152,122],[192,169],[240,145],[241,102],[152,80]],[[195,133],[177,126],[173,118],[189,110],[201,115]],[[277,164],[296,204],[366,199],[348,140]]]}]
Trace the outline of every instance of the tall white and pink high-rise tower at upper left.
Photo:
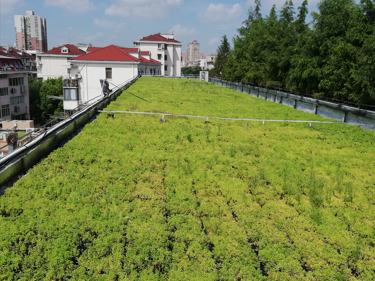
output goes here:
[{"label": "tall white and pink high-rise tower at upper left", "polygon": [[33,11],[26,11],[26,16],[14,16],[14,26],[18,49],[48,51],[45,18],[34,15]]}]

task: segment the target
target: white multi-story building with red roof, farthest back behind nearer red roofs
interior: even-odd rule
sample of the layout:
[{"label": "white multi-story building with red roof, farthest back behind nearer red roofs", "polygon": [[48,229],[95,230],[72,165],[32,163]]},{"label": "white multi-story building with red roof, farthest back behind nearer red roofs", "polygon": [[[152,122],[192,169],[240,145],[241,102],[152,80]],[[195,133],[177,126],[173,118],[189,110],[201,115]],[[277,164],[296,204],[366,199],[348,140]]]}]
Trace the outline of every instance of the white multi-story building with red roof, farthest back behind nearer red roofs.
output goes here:
[{"label": "white multi-story building with red roof, farthest back behind nearer red roofs", "polygon": [[133,42],[141,51],[151,51],[151,58],[161,63],[161,75],[181,75],[182,43],[173,33],[157,33]]}]

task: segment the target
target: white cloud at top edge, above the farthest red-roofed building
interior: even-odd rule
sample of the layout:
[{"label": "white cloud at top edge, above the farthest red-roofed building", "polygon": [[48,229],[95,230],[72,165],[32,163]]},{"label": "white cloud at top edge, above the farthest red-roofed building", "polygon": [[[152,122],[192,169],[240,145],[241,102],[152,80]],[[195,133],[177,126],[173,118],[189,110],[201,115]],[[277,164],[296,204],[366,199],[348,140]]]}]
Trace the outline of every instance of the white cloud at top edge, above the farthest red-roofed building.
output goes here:
[{"label": "white cloud at top edge, above the farthest red-roofed building", "polygon": [[160,18],[167,14],[169,7],[179,6],[183,2],[184,0],[116,0],[115,4],[105,10],[105,15]]}]

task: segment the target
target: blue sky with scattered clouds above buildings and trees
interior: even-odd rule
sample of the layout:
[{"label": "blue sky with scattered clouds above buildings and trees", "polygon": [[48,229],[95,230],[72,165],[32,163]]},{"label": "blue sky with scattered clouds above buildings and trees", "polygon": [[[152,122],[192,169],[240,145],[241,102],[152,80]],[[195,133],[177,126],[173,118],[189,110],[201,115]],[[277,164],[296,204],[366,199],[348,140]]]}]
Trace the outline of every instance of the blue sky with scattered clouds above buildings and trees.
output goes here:
[{"label": "blue sky with scattered clouds above buildings and trees", "polygon": [[[261,0],[261,13],[269,14],[273,4],[280,9],[284,2]],[[296,12],[302,2],[294,1]],[[309,12],[317,10],[317,3],[309,1]],[[224,34],[233,38],[250,6],[254,0],[0,0],[0,44],[15,43],[13,15],[31,10],[47,20],[48,49],[67,42],[133,47],[141,36],[174,31],[183,52],[197,40],[200,52],[210,54]]]}]

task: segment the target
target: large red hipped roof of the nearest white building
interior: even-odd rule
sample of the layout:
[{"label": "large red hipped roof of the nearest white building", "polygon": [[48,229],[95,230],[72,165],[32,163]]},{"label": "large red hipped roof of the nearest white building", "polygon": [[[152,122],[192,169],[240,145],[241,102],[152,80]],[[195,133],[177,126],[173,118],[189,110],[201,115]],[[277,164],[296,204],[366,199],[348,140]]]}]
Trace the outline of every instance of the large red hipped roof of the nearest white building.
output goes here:
[{"label": "large red hipped roof of the nearest white building", "polygon": [[[127,50],[132,48],[121,48],[114,45],[109,45],[104,48],[99,48],[96,51],[72,58],[72,60],[98,60],[98,61],[111,61],[111,62],[145,62],[145,63],[159,63],[157,61],[150,61],[141,57],[138,59],[127,53]],[[134,49],[137,50],[138,49]],[[160,64],[160,63],[159,63]]]}]

